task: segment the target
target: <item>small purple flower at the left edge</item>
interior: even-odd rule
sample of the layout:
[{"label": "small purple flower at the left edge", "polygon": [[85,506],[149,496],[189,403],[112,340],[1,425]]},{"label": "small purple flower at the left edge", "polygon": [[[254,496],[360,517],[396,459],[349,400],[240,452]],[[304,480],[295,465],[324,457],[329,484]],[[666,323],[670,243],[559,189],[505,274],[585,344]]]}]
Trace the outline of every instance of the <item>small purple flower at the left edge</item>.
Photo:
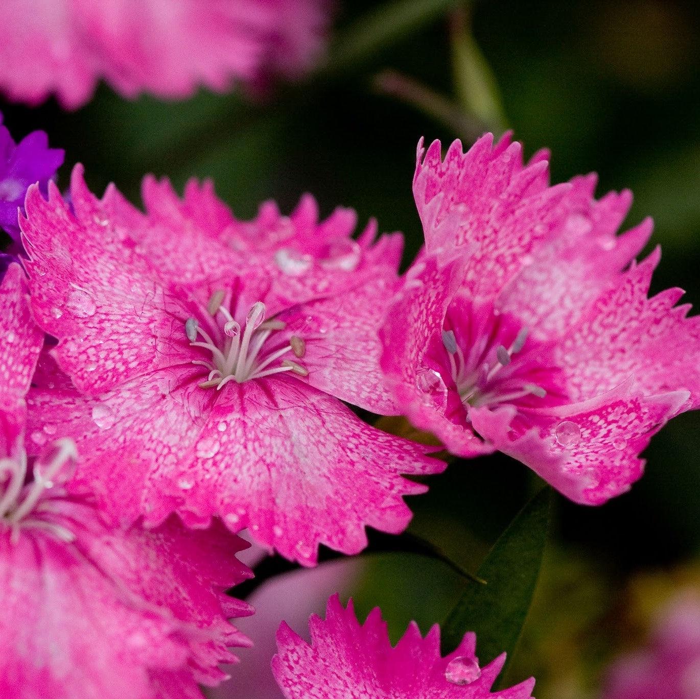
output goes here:
[{"label": "small purple flower at the left edge", "polygon": [[35,131],[15,143],[0,115],[0,227],[13,239],[8,254],[0,255],[2,270],[21,249],[18,209],[24,211],[29,185],[39,183],[45,194],[49,180],[63,164],[63,150],[48,147],[48,137]]}]

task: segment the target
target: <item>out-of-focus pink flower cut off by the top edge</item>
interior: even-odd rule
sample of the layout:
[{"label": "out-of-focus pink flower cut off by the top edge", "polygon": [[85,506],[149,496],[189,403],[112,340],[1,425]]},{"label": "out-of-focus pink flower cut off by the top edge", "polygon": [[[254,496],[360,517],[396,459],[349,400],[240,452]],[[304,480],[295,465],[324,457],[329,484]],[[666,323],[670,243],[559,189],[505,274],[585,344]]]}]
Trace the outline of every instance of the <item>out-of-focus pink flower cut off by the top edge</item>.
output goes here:
[{"label": "out-of-focus pink flower cut off by the top edge", "polygon": [[65,108],[104,78],[125,97],[189,97],[269,76],[297,77],[318,57],[325,0],[10,0],[0,5],[0,89]]}]

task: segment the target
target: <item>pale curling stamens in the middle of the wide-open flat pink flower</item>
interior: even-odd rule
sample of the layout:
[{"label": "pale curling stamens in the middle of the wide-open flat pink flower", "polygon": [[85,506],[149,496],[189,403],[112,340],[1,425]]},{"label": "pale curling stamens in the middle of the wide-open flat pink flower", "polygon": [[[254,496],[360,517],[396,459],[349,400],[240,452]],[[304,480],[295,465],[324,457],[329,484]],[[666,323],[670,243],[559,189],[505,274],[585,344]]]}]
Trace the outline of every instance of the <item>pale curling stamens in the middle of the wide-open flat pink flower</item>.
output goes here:
[{"label": "pale curling stamens in the middle of the wide-open flat pink flower", "polygon": [[[223,304],[225,296],[223,290],[211,295],[203,323],[197,318],[188,318],[185,323],[190,346],[211,352],[211,361],[193,361],[209,369],[207,381],[202,381],[200,388],[221,390],[228,381],[243,383],[283,372],[309,375],[296,361],[306,352],[301,337],[292,335],[280,343],[278,333],[285,324],[276,318],[265,320],[265,304],[260,301],[251,306],[241,328]],[[207,327],[203,327],[205,324]]]}]

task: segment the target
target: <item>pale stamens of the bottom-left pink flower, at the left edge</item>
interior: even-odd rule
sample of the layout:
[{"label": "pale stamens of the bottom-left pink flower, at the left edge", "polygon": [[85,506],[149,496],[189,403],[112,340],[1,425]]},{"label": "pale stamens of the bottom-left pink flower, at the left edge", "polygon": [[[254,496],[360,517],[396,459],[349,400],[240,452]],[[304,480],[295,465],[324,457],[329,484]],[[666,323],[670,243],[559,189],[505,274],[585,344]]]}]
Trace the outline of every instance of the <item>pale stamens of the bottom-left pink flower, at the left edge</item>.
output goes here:
[{"label": "pale stamens of the bottom-left pink flower, at the left edge", "polygon": [[41,514],[46,509],[47,491],[62,486],[73,476],[77,456],[72,439],[57,440],[37,458],[29,483],[25,483],[27,453],[24,450],[19,458],[0,459],[0,489],[4,488],[0,497],[0,521],[12,530],[13,541],[17,540],[21,528],[43,529],[63,541],[73,541],[72,532]]}]

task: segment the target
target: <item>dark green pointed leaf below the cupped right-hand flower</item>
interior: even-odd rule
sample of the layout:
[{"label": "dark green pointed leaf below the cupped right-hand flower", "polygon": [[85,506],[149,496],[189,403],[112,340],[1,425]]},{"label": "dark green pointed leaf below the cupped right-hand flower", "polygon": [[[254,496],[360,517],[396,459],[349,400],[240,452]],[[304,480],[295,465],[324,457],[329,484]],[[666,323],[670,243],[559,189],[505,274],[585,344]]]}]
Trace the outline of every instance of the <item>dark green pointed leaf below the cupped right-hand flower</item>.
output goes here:
[{"label": "dark green pointed leaf below the cupped right-hand flower", "polygon": [[500,535],[442,626],[444,652],[467,631],[477,635],[482,664],[507,652],[512,657],[537,584],[551,518],[552,491],[540,490]]}]

